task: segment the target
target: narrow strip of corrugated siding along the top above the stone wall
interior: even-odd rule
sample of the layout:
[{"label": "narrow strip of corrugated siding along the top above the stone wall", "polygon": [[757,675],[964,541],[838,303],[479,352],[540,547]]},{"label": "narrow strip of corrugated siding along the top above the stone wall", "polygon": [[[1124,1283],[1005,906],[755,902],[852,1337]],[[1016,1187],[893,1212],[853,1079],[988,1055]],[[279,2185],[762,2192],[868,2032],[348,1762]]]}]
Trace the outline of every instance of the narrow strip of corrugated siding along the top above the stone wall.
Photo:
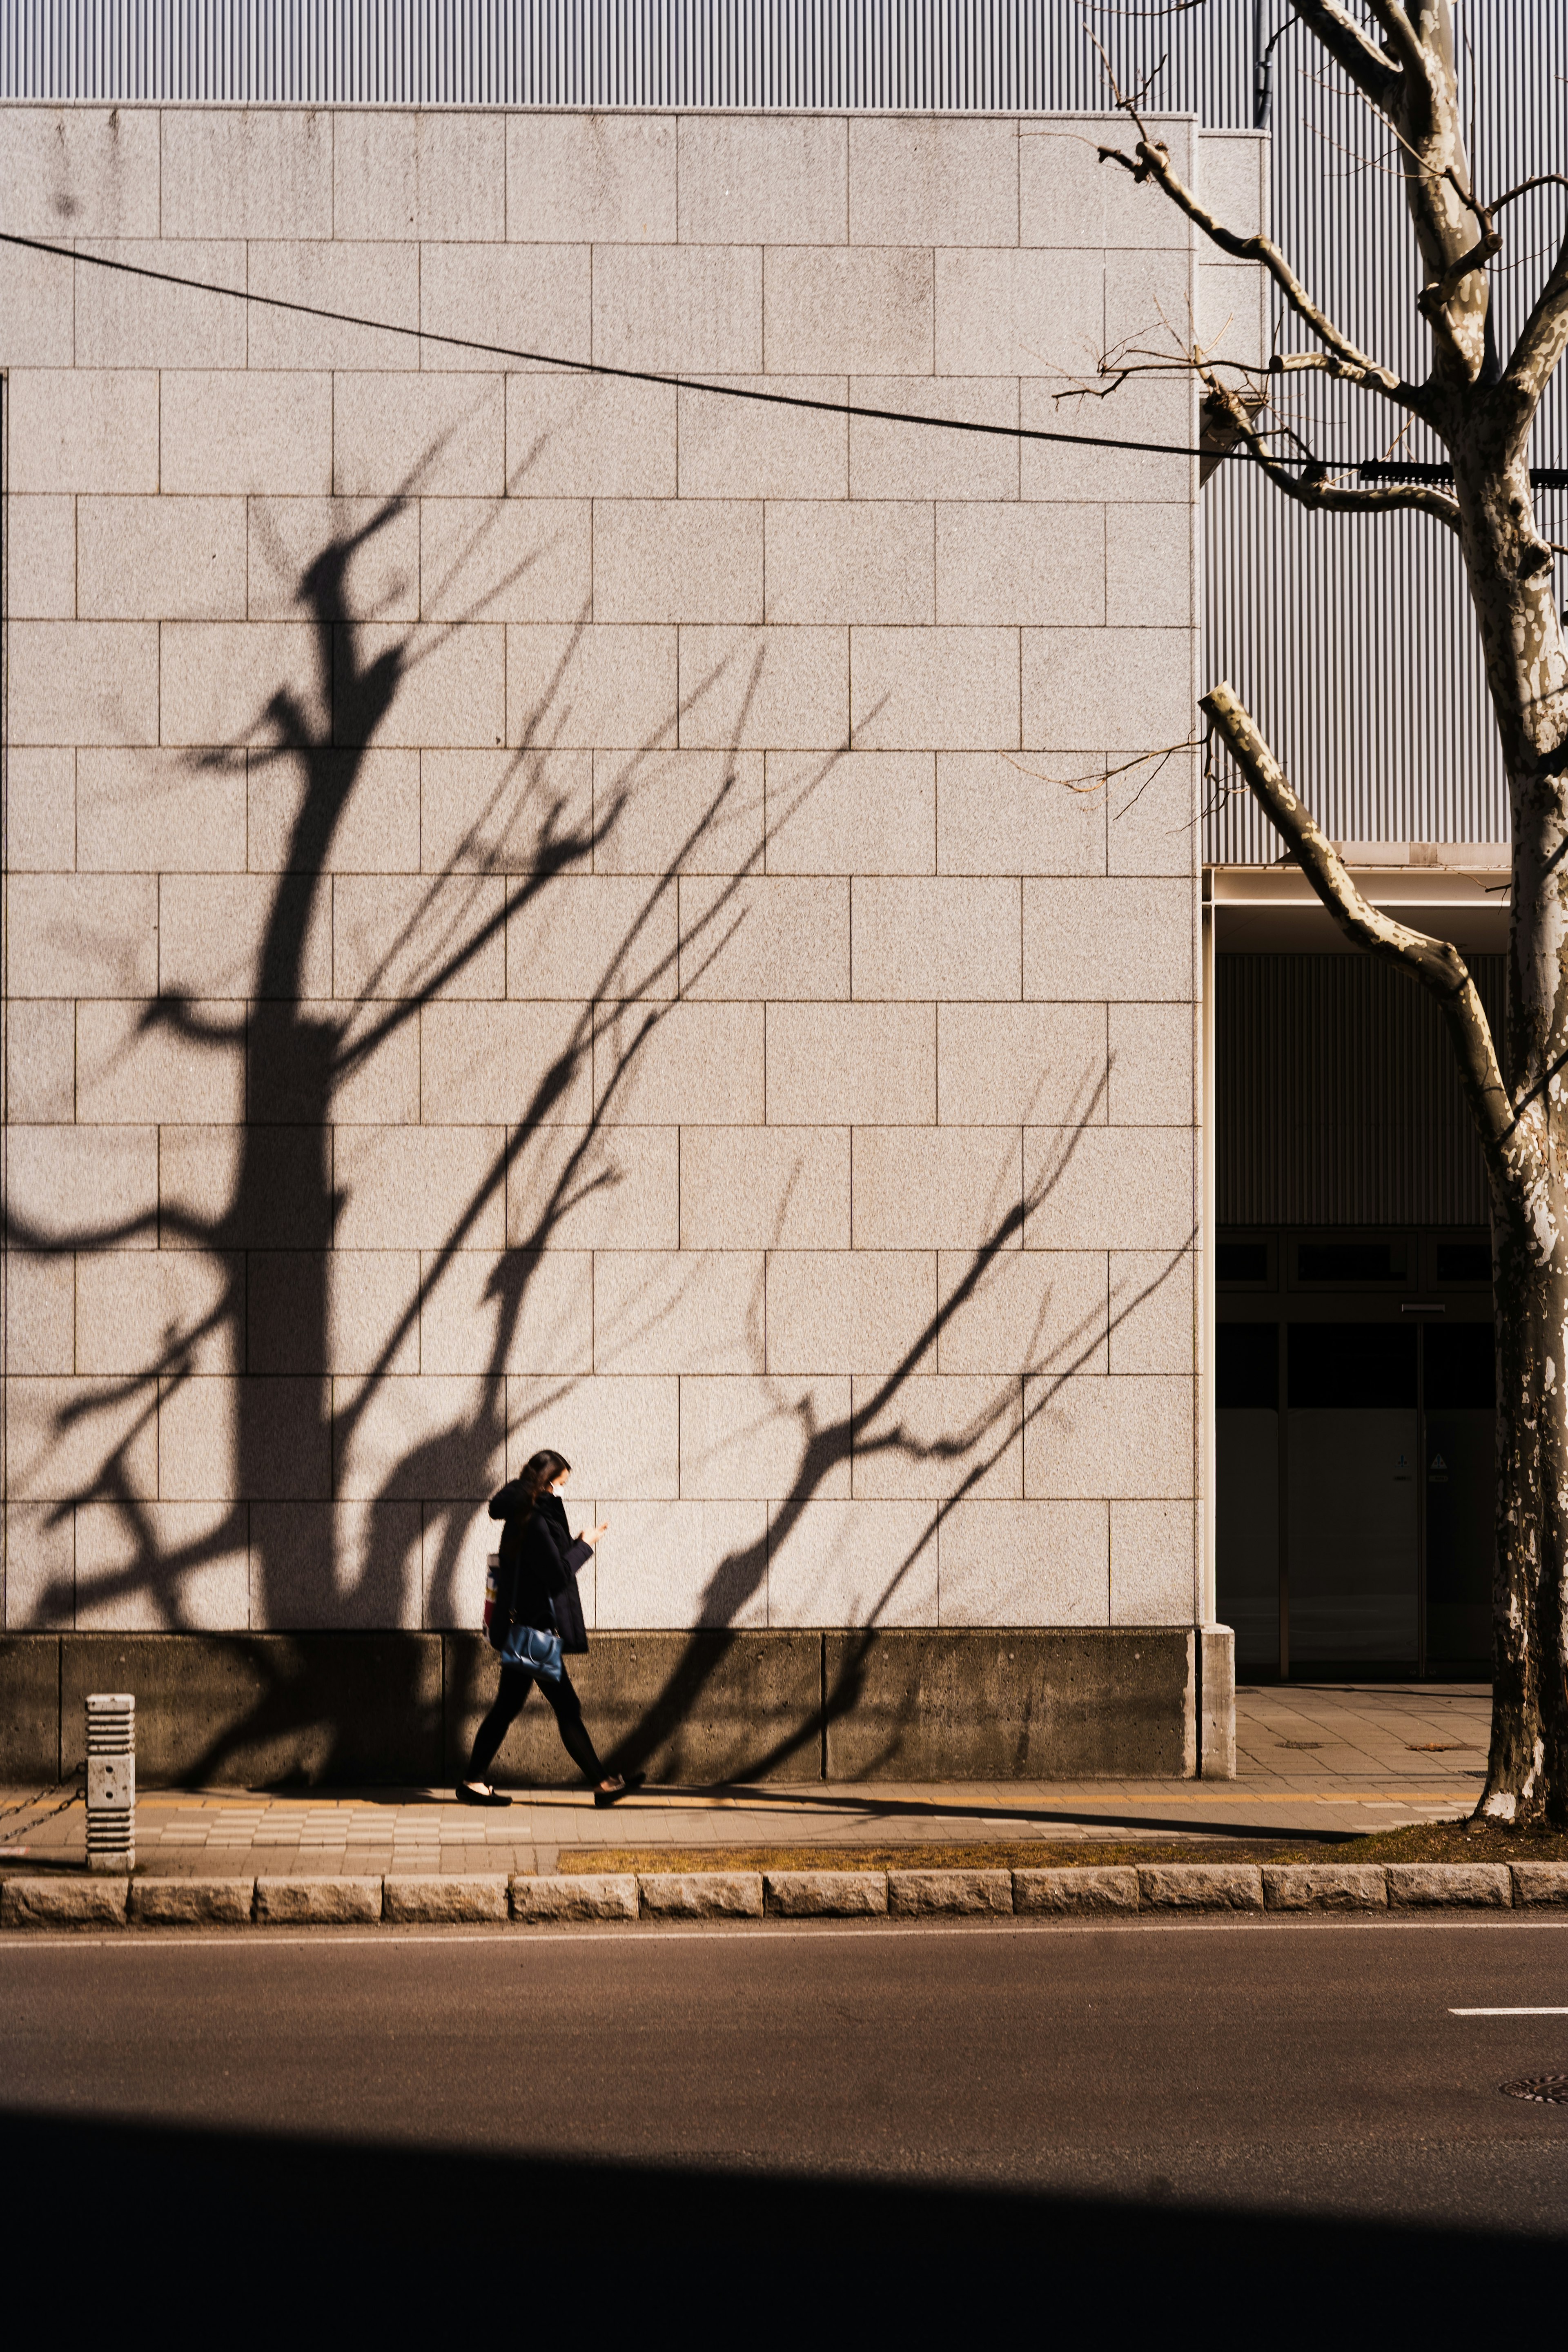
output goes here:
[{"label": "narrow strip of corrugated siding along the top above the stone wall", "polygon": [[[0,94],[228,106],[1100,108],[1251,125],[1253,0],[9,0]],[[1161,68],[1164,59],[1164,68]],[[1185,94],[1178,94],[1185,92]]]}]

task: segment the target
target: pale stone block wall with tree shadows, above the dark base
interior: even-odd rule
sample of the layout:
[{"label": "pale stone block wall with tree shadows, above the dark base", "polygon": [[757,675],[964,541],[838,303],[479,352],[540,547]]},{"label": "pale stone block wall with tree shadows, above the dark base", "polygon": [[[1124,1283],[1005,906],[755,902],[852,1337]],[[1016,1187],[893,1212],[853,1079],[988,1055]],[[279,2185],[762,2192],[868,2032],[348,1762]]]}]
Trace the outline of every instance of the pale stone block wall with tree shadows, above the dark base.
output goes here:
[{"label": "pale stone block wall with tree shadows, above the dark base", "polygon": [[[1187,445],[1060,397],[1258,318],[1117,136],[9,108],[0,214]],[[5,1623],[470,1625],[545,1442],[599,1628],[1190,1623],[1192,463],[14,247],[0,362]]]}]

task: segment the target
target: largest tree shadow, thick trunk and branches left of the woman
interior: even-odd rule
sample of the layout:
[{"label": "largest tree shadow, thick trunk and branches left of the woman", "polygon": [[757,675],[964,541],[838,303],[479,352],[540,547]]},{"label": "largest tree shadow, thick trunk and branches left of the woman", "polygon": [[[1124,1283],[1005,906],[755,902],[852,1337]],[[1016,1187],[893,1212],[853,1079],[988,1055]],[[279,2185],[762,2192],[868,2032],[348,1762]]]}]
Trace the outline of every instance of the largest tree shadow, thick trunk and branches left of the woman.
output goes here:
[{"label": "largest tree shadow, thick trunk and branches left of the woman", "polygon": [[[425,461],[428,463],[428,461]],[[277,687],[254,729],[230,746],[197,755],[197,764],[240,769],[296,795],[287,847],[270,889],[261,927],[252,995],[244,1011],[226,1016],[193,995],[165,993],[146,1007],[136,1042],[148,1035],[174,1040],[200,1061],[240,1058],[244,1068],[244,1120],[233,1129],[235,1160],[214,1190],[207,1171],[179,1183],[165,1171],[158,1209],[61,1228],[33,1204],[7,1216],[7,1249],[113,1251],[148,1247],[197,1261],[212,1277],[195,1312],[176,1315],[150,1359],[125,1378],[96,1381],[75,1392],[54,1416],[52,1451],[92,1449],[92,1475],[59,1491],[45,1463],[45,1491],[54,1494],[49,1524],[73,1522],[94,1510],[99,1564],[78,1550],[71,1573],[45,1581],[42,1623],[85,1630],[200,1630],[207,1609],[200,1581],[244,1562],[249,1623],[268,1630],[353,1630],[407,1623],[451,1623],[458,1555],[473,1538],[473,1498],[501,1482],[505,1456],[505,1378],[512,1343],[524,1319],[541,1256],[557,1228],[592,1192],[621,1178],[595,1157],[597,1131],[616,1096],[625,1091],[651,1035],[677,1000],[677,955],[701,971],[715,946],[733,929],[733,887],[696,924],[675,953],[644,953],[661,898],[677,887],[679,858],[668,875],[649,880],[644,903],[607,950],[604,974],[590,1002],[576,1009],[559,1047],[538,1070],[496,1070],[496,1115],[503,1143],[482,1167],[468,1200],[418,1258],[418,1279],[383,1317],[369,1357],[346,1378],[334,1334],[334,1247],[348,1188],[336,1164],[343,1127],[343,1091],[383,1056],[400,1033],[454,990],[508,922],[538,901],[550,884],[585,868],[595,844],[621,826],[637,783],[642,757],[656,753],[677,727],[679,710],[623,760],[623,776],[602,807],[571,807],[550,783],[557,736],[571,710],[583,623],[531,710],[522,743],[505,757],[487,804],[437,875],[414,877],[414,901],[378,943],[371,971],[353,1002],[322,1002],[308,993],[310,957],[324,917],[324,894],[334,877],[334,849],[362,788],[367,755],[404,691],[414,668],[433,647],[414,635],[364,654],[367,623],[350,602],[348,576],[355,557],[404,510],[407,494],[386,501],[364,524],[331,536],[299,579],[299,602],[313,626],[313,694]],[[484,527],[482,527],[484,529]],[[510,579],[501,588],[510,586]],[[489,600],[501,590],[491,590]],[[482,607],[463,619],[482,616]],[[458,628],[461,621],[451,623]],[[755,668],[755,666],[752,666]],[[719,684],[722,668],[698,680],[693,701]],[[741,727],[755,694],[752,675],[741,691]],[[710,807],[693,821],[696,840],[722,816],[733,795],[733,762],[724,762]],[[527,868],[510,873],[505,851],[484,847],[496,818],[527,818],[531,844]],[[501,826],[503,835],[508,826]],[[496,898],[494,880],[505,875]],[[456,908],[454,908],[456,898]],[[402,978],[400,974],[409,974]],[[628,974],[632,978],[628,978]],[[668,990],[668,1000],[637,1009],[616,1065],[604,1075],[585,1129],[555,1127],[562,1105],[595,1082],[595,1051],[611,1030],[623,1030],[621,997],[635,985]],[[407,1112],[404,1112],[407,1115]],[[411,1131],[414,1136],[418,1129]],[[567,1138],[555,1150],[555,1138]],[[496,1251],[475,1315],[489,1322],[477,1409],[463,1411],[409,1444],[376,1444],[369,1482],[343,1505],[346,1463],[367,1423],[386,1404],[409,1341],[418,1334],[442,1277],[449,1277],[489,1216],[508,1202],[508,1181],[529,1160],[541,1162],[527,1183],[529,1223],[517,1247]],[[205,1178],[205,1181],[202,1181]],[[423,1235],[423,1240],[433,1240]],[[233,1446],[235,1501],[202,1508],[200,1531],[181,1526],[190,1508],[169,1510],[153,1491],[148,1446],[160,1423],[188,1406],[205,1406],[216,1383],[202,1381],[214,1367],[233,1367],[233,1428],[207,1428],[209,1456]],[[465,1399],[468,1402],[468,1399]],[[197,1421],[200,1428],[200,1421]],[[200,1494],[200,1484],[195,1489]],[[430,1498],[463,1496],[451,1503]],[[355,1522],[353,1529],[346,1522]],[[106,1534],[106,1526],[110,1534]],[[355,1557],[350,1559],[348,1552]],[[108,1555],[108,1557],[103,1557]],[[339,1776],[364,1745],[353,1722],[334,1715],[320,1682],[280,1658],[275,1642],[230,1637],[244,1653],[247,1689],[254,1693],[240,1722],[214,1738],[190,1773],[221,1776],[240,1752],[308,1757],[310,1776]],[[381,1724],[404,1722],[411,1736],[400,1745],[440,1750],[440,1677],[428,1684],[428,1661],[407,1642],[378,1644],[376,1715]],[[390,1677],[390,1684],[388,1684]],[[362,1696],[362,1693],[360,1693]]]}]

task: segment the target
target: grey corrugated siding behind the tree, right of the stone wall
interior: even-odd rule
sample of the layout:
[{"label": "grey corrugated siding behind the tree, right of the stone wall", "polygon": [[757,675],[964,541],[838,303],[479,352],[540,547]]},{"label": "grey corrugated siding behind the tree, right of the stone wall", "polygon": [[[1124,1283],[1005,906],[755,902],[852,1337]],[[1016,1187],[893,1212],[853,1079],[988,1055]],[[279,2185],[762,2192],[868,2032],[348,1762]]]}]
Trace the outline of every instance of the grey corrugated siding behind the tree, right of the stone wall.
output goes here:
[{"label": "grey corrugated siding behind the tree, right of the stone wall", "polygon": [[[1288,12],[1267,9],[1274,24]],[[1568,5],[1460,0],[1460,66],[1472,101],[1472,167],[1483,195],[1561,169],[1568,118]],[[1420,379],[1429,334],[1415,308],[1418,263],[1394,176],[1394,139],[1288,21],[1272,113],[1274,223],[1302,282],[1363,350]],[[1312,71],[1307,71],[1312,68]],[[1502,216],[1493,318],[1507,350],[1563,233],[1561,188]],[[1274,306],[1279,350],[1307,329]],[[1319,452],[1347,461],[1441,463],[1415,428],[1326,376],[1274,379],[1281,414]],[[1535,426],[1533,463],[1568,463],[1568,379],[1559,369]],[[1307,515],[1239,466],[1206,496],[1204,675],[1227,675],[1286,771],[1335,840],[1500,842],[1507,783],[1486,699],[1469,593],[1450,534],[1427,515]],[[1568,499],[1537,489],[1547,539],[1568,541]],[[1272,830],[1246,790],[1208,811],[1206,856],[1269,861]]]}]

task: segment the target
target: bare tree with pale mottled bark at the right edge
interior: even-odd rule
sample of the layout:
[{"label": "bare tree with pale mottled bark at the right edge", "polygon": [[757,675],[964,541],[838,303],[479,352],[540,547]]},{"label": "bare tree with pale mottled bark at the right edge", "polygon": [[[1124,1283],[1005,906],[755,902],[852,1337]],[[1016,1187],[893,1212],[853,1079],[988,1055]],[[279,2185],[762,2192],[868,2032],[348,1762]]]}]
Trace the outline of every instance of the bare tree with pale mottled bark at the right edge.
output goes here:
[{"label": "bare tree with pale mottled bark at the right edge", "polygon": [[[1566,1823],[1568,656],[1552,560],[1568,550],[1549,546],[1535,527],[1528,437],[1568,341],[1568,235],[1507,360],[1493,341],[1486,266],[1502,249],[1502,212],[1526,188],[1544,181],[1568,188],[1568,179],[1554,172],[1486,198],[1476,191],[1448,0],[1366,0],[1371,26],[1338,0],[1291,5],[1326,61],[1392,132],[1422,266],[1415,299],[1432,350],[1422,383],[1406,383],[1359,350],[1272,238],[1225,228],[1175,174],[1168,148],[1150,136],[1138,99],[1117,92],[1138,132],[1133,153],[1100,148],[1100,160],[1159,186],[1220,252],[1258,261],[1316,346],[1276,355],[1267,374],[1187,353],[1180,365],[1206,390],[1206,445],[1244,449],[1298,506],[1420,508],[1453,532],[1469,581],[1514,818],[1502,1061],[1458,948],[1366,903],[1229,684],[1213,687],[1201,708],[1347,938],[1432,990],[1460,1065],[1490,1188],[1497,1317],[1495,1684],[1476,1820]],[[1121,372],[1112,362],[1107,369]],[[1448,452],[1453,487],[1335,480],[1305,442],[1267,423],[1267,376],[1293,369],[1356,386],[1401,430],[1427,426]]]}]

